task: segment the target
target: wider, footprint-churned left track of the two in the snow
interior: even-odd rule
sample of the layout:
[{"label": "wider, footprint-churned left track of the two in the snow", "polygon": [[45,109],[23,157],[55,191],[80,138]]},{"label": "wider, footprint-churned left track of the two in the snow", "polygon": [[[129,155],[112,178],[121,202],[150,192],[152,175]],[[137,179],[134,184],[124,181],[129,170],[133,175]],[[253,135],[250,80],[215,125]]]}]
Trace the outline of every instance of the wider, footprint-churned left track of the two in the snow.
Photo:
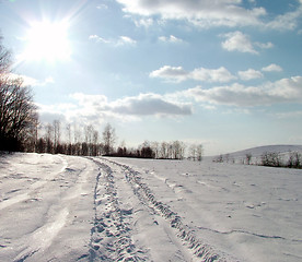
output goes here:
[{"label": "wider, footprint-churned left track of the two in the snow", "polygon": [[128,216],[117,198],[113,170],[92,159],[100,167],[94,189],[94,225],[91,229],[89,261],[147,261],[144,252],[131,239]]}]

